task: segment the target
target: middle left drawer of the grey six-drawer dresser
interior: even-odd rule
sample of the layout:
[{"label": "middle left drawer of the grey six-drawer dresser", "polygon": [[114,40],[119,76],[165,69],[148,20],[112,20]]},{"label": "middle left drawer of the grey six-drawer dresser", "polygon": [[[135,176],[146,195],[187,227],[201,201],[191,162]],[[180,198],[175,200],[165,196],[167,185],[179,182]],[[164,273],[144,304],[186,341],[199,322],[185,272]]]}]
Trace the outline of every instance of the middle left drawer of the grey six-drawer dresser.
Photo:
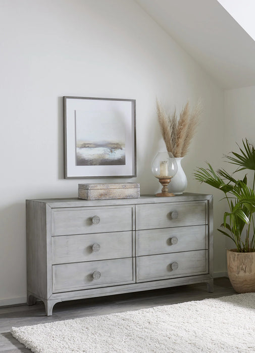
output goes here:
[{"label": "middle left drawer of the grey six-drawer dresser", "polygon": [[53,264],[132,257],[132,231],[53,237]]}]

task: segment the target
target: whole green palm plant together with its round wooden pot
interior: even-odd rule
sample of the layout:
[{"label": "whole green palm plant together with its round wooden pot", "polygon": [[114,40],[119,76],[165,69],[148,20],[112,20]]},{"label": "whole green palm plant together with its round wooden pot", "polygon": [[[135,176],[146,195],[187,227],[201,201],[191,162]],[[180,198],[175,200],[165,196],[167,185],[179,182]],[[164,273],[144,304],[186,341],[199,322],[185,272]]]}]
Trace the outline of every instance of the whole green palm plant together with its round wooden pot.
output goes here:
[{"label": "whole green palm plant together with its round wooden pot", "polygon": [[[228,275],[238,293],[255,291],[255,149],[247,139],[242,141],[239,153],[225,155],[226,162],[237,165],[233,173],[225,169],[214,170],[210,163],[207,168],[195,170],[195,179],[223,192],[228,210],[218,229],[235,243],[227,250]],[[235,179],[237,171],[252,170],[253,181],[247,184],[247,173],[242,179]]]}]

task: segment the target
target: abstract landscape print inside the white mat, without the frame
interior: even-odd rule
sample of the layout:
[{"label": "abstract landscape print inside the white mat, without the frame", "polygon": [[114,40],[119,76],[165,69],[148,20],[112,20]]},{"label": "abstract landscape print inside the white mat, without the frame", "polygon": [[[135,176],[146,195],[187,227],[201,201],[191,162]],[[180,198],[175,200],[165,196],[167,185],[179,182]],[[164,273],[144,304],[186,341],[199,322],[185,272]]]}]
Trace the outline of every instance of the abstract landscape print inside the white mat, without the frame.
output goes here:
[{"label": "abstract landscape print inside the white mat, without the frame", "polygon": [[125,165],[125,125],[114,110],[76,111],[76,165]]}]

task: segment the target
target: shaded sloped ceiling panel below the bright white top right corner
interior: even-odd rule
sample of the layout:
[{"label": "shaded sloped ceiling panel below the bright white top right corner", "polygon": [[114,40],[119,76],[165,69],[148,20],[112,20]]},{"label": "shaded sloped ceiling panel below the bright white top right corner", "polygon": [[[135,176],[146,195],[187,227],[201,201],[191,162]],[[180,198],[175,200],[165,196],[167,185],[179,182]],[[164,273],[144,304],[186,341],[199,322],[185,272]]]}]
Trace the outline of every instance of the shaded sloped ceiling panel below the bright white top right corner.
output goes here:
[{"label": "shaded sloped ceiling panel below the bright white top right corner", "polygon": [[135,0],[220,86],[255,85],[255,41],[217,0]]}]

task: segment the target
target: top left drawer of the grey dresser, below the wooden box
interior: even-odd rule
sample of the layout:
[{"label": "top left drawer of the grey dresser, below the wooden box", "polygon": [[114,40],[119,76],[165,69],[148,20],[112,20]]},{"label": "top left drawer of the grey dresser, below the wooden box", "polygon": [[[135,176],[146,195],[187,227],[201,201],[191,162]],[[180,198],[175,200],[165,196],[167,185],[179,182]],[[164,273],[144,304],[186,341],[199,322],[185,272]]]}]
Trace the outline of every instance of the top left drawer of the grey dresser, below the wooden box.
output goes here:
[{"label": "top left drawer of the grey dresser, below the wooden box", "polygon": [[132,230],[132,206],[54,209],[53,236]]}]

